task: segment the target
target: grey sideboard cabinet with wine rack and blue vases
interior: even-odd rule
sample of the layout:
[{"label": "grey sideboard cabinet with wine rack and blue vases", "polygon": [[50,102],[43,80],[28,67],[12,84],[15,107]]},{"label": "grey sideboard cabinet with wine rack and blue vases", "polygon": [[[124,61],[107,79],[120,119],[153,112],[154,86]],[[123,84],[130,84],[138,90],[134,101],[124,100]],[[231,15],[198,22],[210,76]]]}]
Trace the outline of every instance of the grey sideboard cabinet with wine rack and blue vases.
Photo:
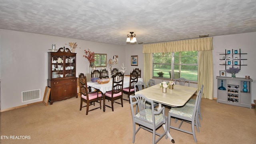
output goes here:
[{"label": "grey sideboard cabinet with wine rack and blue vases", "polygon": [[[252,108],[252,79],[220,76],[217,76],[216,79],[217,102]],[[246,86],[244,86],[245,83]],[[244,87],[247,92],[243,91]]]}]

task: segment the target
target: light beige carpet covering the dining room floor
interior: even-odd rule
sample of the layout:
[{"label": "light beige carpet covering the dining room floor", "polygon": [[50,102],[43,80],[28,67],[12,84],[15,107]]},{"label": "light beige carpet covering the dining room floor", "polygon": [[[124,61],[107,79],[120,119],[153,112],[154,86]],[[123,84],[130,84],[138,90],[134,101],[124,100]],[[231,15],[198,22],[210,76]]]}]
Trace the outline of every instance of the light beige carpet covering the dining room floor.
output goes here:
[{"label": "light beige carpet covering the dining room floor", "polygon": [[[127,98],[127,95],[124,95]],[[102,101],[103,102],[103,101]],[[110,104],[110,102],[106,102]],[[98,104],[97,104],[98,105]],[[106,107],[85,114],[79,110],[80,98],[71,98],[52,105],[35,104],[0,113],[1,144],[132,144],[130,104],[114,104],[114,112]],[[93,106],[90,106],[92,108]],[[202,99],[202,127],[196,132],[197,144],[255,144],[256,110],[216,100]],[[169,109],[166,108],[166,115]],[[179,122],[179,121],[178,121]],[[174,119],[171,122],[174,123]],[[190,124],[182,126],[191,129]],[[158,129],[162,132],[162,127]],[[175,144],[195,144],[193,136],[171,129]],[[4,139],[4,138],[9,139]],[[10,139],[10,136],[16,136]],[[18,136],[18,137],[17,137]],[[23,140],[24,136],[30,139]],[[152,133],[141,129],[135,144],[152,144]],[[158,144],[171,144],[162,138]]]}]

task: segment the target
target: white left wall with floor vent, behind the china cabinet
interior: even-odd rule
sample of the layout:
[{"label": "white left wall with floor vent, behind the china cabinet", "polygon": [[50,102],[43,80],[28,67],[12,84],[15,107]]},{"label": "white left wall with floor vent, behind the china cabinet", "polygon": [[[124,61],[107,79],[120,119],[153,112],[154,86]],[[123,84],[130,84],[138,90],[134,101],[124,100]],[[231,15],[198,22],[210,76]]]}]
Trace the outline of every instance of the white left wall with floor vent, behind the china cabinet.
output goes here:
[{"label": "white left wall with floor vent, behind the china cabinet", "polygon": [[[107,54],[108,59],[118,55],[119,69],[126,61],[125,46],[0,29],[1,110],[42,101],[48,78],[48,49],[52,44],[56,44],[56,48],[66,47],[68,42],[78,44],[77,77],[78,73],[89,72],[89,62],[83,57],[88,48]],[[40,100],[22,102],[23,91],[36,89],[40,89]]]}]

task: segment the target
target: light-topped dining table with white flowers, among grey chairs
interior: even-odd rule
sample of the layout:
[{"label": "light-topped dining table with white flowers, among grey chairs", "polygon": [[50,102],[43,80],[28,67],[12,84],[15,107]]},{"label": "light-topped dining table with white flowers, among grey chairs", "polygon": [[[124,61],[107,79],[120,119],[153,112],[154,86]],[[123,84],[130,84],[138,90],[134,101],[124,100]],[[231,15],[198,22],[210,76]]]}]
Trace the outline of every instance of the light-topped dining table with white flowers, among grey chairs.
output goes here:
[{"label": "light-topped dining table with white flowers, among grey chairs", "polygon": [[[158,110],[162,108],[162,104],[171,107],[179,107],[184,106],[186,102],[197,92],[197,88],[189,87],[189,86],[181,86],[174,85],[173,89],[166,89],[166,93],[162,92],[162,87],[160,84],[156,84],[154,86],[150,86],[148,88],[144,88],[135,94],[142,94],[146,96],[146,98],[153,100],[154,102],[159,103]],[[163,124],[163,128],[165,129],[165,125]],[[174,139],[168,134],[168,138],[174,143]]]}]

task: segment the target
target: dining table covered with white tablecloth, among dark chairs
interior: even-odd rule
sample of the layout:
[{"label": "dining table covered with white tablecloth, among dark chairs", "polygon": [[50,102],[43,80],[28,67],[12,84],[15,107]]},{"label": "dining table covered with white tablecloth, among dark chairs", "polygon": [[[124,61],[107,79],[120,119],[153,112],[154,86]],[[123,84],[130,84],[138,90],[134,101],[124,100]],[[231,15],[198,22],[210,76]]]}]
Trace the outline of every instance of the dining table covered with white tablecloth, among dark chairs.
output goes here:
[{"label": "dining table covered with white tablecloth, among dark chairs", "polygon": [[[143,81],[142,78],[138,78],[138,82]],[[92,88],[100,90],[103,94],[103,112],[105,112],[105,93],[108,91],[112,90],[112,83],[113,83],[113,78],[110,78],[110,81],[106,84],[99,84],[98,82],[87,82],[87,86],[90,86]],[[123,88],[128,88],[130,86],[130,75],[129,76],[124,76],[124,81],[123,81]]]}]

